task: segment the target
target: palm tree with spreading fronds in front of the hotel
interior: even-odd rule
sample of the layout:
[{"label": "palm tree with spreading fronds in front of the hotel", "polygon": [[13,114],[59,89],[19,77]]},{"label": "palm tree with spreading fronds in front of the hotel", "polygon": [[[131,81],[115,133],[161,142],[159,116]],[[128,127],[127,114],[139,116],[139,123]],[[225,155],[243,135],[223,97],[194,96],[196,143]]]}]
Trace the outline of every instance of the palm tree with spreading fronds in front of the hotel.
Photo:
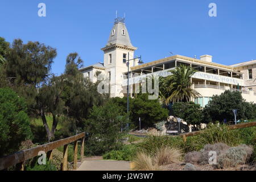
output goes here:
[{"label": "palm tree with spreading fronds in front of the hotel", "polygon": [[180,65],[170,72],[172,75],[160,79],[160,95],[166,105],[170,102],[189,102],[191,98],[200,96],[200,93],[191,88],[191,76],[197,72],[195,69]]}]

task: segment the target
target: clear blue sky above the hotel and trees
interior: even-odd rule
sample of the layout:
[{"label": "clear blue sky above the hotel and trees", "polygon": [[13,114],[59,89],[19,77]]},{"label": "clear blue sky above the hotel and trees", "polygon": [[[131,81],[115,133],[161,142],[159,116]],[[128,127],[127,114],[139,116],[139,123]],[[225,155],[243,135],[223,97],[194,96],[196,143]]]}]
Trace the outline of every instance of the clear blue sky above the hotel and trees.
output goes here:
[{"label": "clear blue sky above the hotel and trees", "polygon": [[[38,4],[46,3],[46,17]],[[217,17],[208,15],[216,3]],[[78,52],[84,65],[103,61],[104,47],[113,27],[115,10],[126,14],[126,26],[135,55],[145,63],[170,56],[235,64],[256,59],[256,1],[232,0],[0,0],[0,36],[39,41],[57,49],[53,73],[62,73],[65,58]]]}]

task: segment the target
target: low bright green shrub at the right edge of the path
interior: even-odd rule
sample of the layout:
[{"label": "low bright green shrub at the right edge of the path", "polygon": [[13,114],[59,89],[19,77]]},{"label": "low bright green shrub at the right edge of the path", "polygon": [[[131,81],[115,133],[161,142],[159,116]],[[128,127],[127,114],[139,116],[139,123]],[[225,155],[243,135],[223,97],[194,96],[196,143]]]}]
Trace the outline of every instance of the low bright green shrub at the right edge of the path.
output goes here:
[{"label": "low bright green shrub at the right edge of the path", "polygon": [[135,146],[128,145],[123,146],[121,150],[112,150],[103,155],[103,159],[112,159],[112,160],[126,160],[130,161],[134,158],[135,155]]}]

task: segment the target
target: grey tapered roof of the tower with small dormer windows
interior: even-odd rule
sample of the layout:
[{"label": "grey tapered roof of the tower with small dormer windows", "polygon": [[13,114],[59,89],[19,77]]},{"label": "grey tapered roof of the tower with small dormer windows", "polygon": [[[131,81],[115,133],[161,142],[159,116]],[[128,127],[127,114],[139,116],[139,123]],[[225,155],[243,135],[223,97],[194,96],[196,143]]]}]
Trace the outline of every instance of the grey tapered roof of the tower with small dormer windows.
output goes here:
[{"label": "grey tapered roof of the tower with small dormer windows", "polygon": [[125,26],[124,18],[115,19],[114,27],[110,32],[109,40],[106,44],[106,47],[113,46],[115,44],[134,48],[133,45],[131,44],[130,36]]}]

